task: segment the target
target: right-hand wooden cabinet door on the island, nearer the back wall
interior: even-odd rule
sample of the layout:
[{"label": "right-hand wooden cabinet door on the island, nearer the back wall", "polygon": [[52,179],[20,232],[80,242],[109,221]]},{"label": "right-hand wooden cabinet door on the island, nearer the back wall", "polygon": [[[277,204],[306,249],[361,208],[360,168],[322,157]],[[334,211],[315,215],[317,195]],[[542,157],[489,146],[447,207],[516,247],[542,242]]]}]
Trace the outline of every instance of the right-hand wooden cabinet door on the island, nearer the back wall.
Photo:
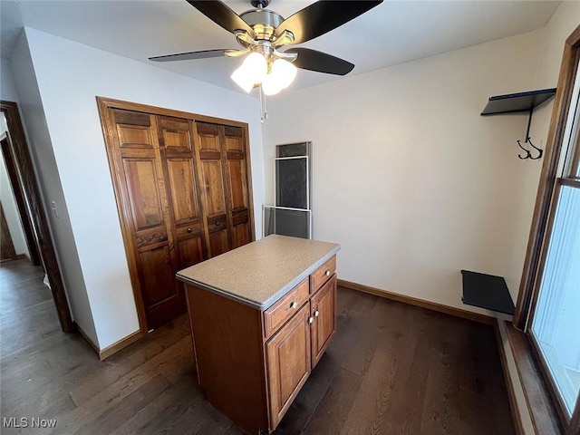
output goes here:
[{"label": "right-hand wooden cabinet door on the island, nearer the back wall", "polygon": [[336,275],[310,299],[313,318],[312,367],[320,361],[336,333]]}]

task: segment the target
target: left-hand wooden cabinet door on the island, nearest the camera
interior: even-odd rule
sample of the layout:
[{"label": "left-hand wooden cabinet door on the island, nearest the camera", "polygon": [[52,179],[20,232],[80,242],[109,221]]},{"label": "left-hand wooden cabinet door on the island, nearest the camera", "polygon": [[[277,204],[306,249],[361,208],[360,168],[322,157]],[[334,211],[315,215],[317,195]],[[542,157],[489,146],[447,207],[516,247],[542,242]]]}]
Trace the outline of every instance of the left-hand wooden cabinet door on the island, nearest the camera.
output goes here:
[{"label": "left-hand wooden cabinet door on the island, nearest the camera", "polygon": [[275,429],[310,374],[310,304],[266,343],[270,429]]}]

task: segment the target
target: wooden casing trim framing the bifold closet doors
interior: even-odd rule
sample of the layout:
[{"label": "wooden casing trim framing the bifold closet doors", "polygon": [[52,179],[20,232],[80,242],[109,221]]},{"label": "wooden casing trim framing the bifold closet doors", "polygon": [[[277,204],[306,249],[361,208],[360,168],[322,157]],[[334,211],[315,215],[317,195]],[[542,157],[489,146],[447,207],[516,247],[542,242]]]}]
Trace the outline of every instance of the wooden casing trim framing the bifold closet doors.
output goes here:
[{"label": "wooden casing trim framing the bifold closet doors", "polygon": [[[117,208],[119,211],[119,221],[121,224],[121,234],[123,237],[123,246],[125,248],[125,255],[127,257],[127,262],[129,266],[129,274],[131,277],[131,287],[133,291],[133,297],[135,300],[135,306],[137,308],[137,316],[140,325],[140,334],[144,335],[148,333],[147,327],[147,317],[145,312],[145,304],[143,303],[141,288],[140,288],[140,277],[137,267],[137,259],[132,249],[133,242],[131,240],[131,210],[129,210],[129,205],[125,204],[123,201],[124,195],[121,191],[121,170],[116,167],[116,160],[114,158],[111,144],[115,143],[115,138],[117,131],[114,129],[114,120],[111,118],[112,110],[125,110],[125,111],[140,111],[143,113],[148,113],[157,116],[167,116],[173,118],[187,119],[191,121],[200,122],[210,122],[220,125],[227,125],[232,127],[240,127],[244,131],[245,139],[247,142],[247,189],[248,189],[248,201],[249,201],[249,218],[251,223],[251,237],[252,240],[256,240],[256,227],[254,220],[254,197],[252,189],[252,171],[251,171],[251,158],[249,150],[249,131],[247,123],[240,121],[224,120],[221,118],[215,118],[207,115],[199,115],[197,113],[191,113],[187,111],[176,111],[172,109],[166,109],[156,106],[150,106],[147,104],[141,104],[137,102],[124,102],[121,100],[114,100],[107,97],[96,97],[97,107],[99,110],[99,115],[101,118],[102,133],[104,139],[105,149],[107,151],[107,158],[109,160],[109,166],[111,169],[111,181],[115,194],[115,200],[117,203]],[[203,202],[203,201],[201,201]],[[202,206],[203,207],[203,206]]]}]

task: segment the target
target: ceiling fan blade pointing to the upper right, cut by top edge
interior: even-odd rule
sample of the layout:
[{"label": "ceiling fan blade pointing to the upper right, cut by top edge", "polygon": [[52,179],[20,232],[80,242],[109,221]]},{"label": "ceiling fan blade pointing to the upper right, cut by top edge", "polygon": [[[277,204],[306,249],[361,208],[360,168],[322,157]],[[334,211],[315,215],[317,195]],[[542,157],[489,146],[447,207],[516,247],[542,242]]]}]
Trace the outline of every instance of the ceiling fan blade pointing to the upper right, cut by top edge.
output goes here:
[{"label": "ceiling fan blade pointing to the upper right, cut by top edge", "polygon": [[382,0],[320,0],[286,18],[276,28],[275,35],[280,36],[288,30],[295,35],[294,43],[304,43],[348,23],[380,4]]}]

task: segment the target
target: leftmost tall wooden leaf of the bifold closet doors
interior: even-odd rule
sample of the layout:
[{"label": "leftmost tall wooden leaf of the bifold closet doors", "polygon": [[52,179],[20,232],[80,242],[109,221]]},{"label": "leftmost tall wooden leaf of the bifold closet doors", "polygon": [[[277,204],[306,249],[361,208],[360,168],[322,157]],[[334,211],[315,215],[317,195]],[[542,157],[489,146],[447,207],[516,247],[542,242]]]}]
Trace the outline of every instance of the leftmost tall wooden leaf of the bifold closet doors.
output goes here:
[{"label": "leftmost tall wooden leaf of the bifold closet doors", "polygon": [[120,210],[130,228],[127,249],[135,259],[131,276],[136,277],[133,285],[151,329],[178,315],[182,299],[174,279],[177,257],[155,117],[117,110],[113,118],[116,140],[111,152],[119,171],[116,179],[121,180]]}]

